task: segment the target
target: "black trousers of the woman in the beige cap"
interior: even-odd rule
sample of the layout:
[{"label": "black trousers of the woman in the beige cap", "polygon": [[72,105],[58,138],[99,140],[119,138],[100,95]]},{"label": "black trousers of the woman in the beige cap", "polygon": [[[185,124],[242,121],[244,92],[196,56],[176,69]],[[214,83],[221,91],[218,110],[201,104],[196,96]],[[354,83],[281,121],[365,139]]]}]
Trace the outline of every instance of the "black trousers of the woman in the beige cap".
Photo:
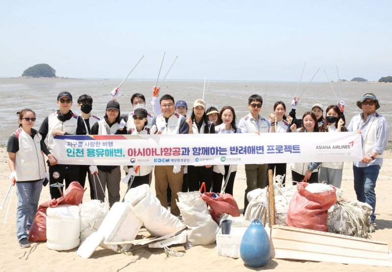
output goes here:
[{"label": "black trousers of the woman in the beige cap", "polygon": [[188,188],[190,192],[199,191],[200,186],[205,182],[206,192],[211,190],[213,166],[206,168],[203,166],[188,165]]}]

